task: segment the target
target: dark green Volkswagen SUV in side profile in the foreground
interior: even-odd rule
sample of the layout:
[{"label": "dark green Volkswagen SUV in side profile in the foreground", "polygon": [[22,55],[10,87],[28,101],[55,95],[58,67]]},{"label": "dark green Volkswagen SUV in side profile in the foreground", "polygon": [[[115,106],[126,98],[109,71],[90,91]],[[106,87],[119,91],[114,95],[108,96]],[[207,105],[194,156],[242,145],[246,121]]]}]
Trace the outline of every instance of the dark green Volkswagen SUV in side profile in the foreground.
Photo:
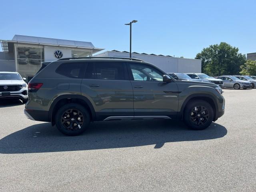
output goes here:
[{"label": "dark green Volkswagen SUV in side profile in the foreground", "polygon": [[220,87],[177,81],[134,58],[64,58],[44,62],[28,83],[25,114],[78,135],[91,121],[184,120],[195,130],[224,114]]}]

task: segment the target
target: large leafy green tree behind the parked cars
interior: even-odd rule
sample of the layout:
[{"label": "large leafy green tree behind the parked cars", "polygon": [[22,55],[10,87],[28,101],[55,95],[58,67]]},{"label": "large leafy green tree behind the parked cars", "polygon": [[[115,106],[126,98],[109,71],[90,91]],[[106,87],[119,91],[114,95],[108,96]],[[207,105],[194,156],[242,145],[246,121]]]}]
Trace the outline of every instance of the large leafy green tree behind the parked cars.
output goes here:
[{"label": "large leafy green tree behind the parked cars", "polygon": [[221,42],[203,48],[196,54],[196,59],[202,60],[202,72],[210,76],[239,74],[240,66],[246,62],[246,56],[238,53],[238,48]]}]

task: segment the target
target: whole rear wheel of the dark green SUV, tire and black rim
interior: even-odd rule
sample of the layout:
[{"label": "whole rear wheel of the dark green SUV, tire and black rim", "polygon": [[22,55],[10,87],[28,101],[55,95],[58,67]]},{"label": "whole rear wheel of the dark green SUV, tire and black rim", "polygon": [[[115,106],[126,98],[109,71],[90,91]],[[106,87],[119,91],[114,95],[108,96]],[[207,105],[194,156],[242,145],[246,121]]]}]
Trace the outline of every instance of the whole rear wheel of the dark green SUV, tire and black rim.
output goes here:
[{"label": "whole rear wheel of the dark green SUV, tire and black rim", "polygon": [[80,104],[69,103],[58,110],[55,123],[58,130],[65,135],[80,135],[90,125],[90,114]]}]

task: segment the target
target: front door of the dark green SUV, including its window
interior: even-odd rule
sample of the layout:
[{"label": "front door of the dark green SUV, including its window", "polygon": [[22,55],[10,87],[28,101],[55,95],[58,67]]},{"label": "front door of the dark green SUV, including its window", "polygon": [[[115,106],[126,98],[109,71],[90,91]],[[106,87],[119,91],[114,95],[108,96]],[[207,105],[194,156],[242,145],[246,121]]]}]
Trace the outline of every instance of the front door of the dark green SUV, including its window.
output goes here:
[{"label": "front door of the dark green SUV, including its window", "polygon": [[134,90],[134,116],[175,116],[178,87],[163,82],[163,73],[148,64],[128,64]]}]

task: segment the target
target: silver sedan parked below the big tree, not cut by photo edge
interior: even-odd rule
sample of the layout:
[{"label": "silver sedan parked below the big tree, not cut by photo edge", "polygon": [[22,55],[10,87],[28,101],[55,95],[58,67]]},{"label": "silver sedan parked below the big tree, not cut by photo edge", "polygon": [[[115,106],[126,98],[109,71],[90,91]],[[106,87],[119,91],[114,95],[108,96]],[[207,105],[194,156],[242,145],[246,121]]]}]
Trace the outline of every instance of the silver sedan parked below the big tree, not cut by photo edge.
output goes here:
[{"label": "silver sedan parked below the big tree, not cut by photo edge", "polygon": [[247,89],[252,87],[252,83],[247,80],[240,80],[234,76],[226,75],[216,77],[217,79],[223,80],[224,87],[234,88],[234,89]]}]

